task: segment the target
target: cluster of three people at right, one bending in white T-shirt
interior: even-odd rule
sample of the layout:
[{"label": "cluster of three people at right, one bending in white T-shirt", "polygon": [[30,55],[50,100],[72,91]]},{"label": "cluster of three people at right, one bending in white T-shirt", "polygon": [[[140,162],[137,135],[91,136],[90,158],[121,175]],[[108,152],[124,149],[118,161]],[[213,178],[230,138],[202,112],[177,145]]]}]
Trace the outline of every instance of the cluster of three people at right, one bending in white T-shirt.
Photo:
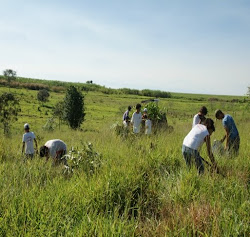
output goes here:
[{"label": "cluster of three people at right, one bending in white T-shirt", "polygon": [[[199,150],[205,142],[207,147],[207,154],[212,162],[214,168],[217,168],[214,159],[210,136],[215,131],[214,121],[211,118],[206,118],[207,108],[202,106],[199,113],[193,118],[193,125],[191,131],[183,140],[182,154],[188,167],[195,163],[199,173],[204,172],[204,159],[200,156]],[[223,143],[226,140],[225,151],[229,156],[237,156],[240,148],[240,136],[235,122],[229,114],[224,114],[221,110],[215,111],[216,119],[222,120],[225,129],[225,136],[221,139]]]}]

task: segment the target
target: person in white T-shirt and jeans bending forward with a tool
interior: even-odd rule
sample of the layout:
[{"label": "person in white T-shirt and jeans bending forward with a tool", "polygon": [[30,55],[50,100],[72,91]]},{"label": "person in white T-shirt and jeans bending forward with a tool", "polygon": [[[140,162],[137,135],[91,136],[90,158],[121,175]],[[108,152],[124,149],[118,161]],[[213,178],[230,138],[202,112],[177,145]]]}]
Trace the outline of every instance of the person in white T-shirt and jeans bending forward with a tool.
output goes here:
[{"label": "person in white T-shirt and jeans bending forward with a tool", "polygon": [[199,148],[206,142],[208,156],[214,166],[217,167],[211,150],[210,136],[215,131],[214,121],[207,118],[203,124],[195,125],[184,138],[182,154],[188,167],[194,162],[199,174],[204,173],[203,158],[200,156]]}]

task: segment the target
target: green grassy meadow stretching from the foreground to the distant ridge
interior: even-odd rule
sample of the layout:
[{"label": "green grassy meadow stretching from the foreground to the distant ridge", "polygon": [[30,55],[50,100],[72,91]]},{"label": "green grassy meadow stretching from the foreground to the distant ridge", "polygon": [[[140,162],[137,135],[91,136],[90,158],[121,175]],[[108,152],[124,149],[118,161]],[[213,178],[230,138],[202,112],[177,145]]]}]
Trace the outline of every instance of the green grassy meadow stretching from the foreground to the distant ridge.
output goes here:
[{"label": "green grassy meadow stretching from the foreground to the distant ridge", "polygon": [[[8,91],[0,87],[0,93]],[[2,128],[0,133],[0,236],[249,236],[250,102],[243,97],[173,94],[159,102],[172,132],[125,139],[112,125],[121,123],[128,105],[148,97],[90,91],[80,130],[64,124],[47,131],[43,126],[64,92],[51,92],[41,105],[37,91],[10,91],[20,99],[21,112],[11,134],[4,136]],[[202,105],[214,120],[218,108],[231,114],[240,132],[239,157],[215,157],[224,176],[207,166],[202,176],[195,168],[189,171],[181,154]],[[69,150],[80,150],[91,142],[101,154],[100,167],[65,175],[64,167],[51,161],[24,161],[26,122],[39,146],[59,138]],[[221,121],[215,125],[212,140],[224,135]],[[204,148],[201,155],[209,160]]]}]

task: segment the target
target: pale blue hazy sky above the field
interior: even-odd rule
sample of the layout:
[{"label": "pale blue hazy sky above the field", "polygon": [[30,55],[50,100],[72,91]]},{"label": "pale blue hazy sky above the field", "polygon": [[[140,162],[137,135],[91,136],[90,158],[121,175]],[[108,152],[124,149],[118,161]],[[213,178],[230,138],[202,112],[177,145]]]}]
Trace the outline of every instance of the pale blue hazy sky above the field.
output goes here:
[{"label": "pale blue hazy sky above the field", "polygon": [[0,0],[0,74],[244,95],[248,0]]}]

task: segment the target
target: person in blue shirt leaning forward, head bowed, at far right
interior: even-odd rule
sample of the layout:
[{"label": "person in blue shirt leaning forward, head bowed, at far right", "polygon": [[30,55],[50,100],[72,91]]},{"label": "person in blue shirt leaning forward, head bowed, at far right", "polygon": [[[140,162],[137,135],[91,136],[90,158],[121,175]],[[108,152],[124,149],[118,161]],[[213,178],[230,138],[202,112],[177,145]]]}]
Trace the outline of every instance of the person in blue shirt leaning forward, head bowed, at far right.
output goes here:
[{"label": "person in blue shirt leaning forward, head bowed, at far right", "polygon": [[221,142],[226,140],[225,150],[229,152],[229,155],[237,156],[240,148],[240,135],[232,116],[224,114],[218,109],[215,111],[215,117],[222,120],[222,125],[226,131],[226,135],[221,139]]}]

